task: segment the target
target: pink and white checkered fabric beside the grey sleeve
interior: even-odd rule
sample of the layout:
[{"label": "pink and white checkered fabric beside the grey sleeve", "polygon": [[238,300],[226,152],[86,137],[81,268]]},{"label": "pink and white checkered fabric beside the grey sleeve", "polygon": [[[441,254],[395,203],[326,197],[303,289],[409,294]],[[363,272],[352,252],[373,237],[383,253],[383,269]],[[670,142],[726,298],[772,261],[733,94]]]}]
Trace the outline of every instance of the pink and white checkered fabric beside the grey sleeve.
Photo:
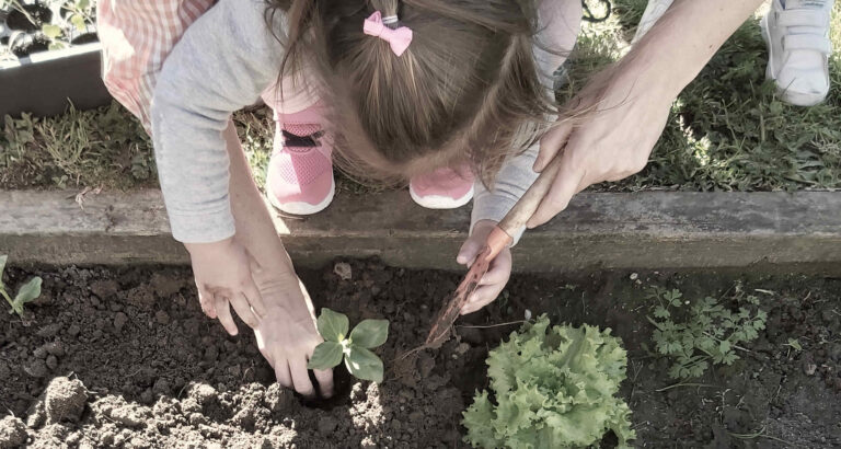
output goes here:
[{"label": "pink and white checkered fabric beside the grey sleeve", "polygon": [[163,61],[187,27],[216,0],[100,0],[102,78],[149,133],[149,107]]}]

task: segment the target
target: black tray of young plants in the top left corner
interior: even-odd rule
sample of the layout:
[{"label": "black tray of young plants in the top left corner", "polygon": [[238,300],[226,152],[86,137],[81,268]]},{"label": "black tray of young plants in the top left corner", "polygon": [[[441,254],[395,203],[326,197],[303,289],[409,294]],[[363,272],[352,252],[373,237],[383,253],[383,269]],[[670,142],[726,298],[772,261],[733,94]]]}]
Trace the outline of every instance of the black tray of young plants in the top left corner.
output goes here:
[{"label": "black tray of young plants in the top left corner", "polygon": [[93,0],[0,0],[0,120],[111,103],[95,16]]}]

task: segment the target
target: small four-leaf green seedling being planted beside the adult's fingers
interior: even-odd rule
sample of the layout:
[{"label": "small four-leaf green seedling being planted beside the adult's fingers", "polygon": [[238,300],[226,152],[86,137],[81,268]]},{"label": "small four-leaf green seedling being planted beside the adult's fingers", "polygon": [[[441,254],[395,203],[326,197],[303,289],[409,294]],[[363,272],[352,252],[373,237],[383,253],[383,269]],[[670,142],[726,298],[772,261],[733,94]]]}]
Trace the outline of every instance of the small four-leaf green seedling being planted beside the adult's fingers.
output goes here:
[{"label": "small four-leaf green seedling being planted beside the adult's fingers", "polygon": [[388,320],[365,320],[348,334],[347,315],[323,309],[319,316],[319,333],[324,343],[312,353],[309,369],[331,369],[345,360],[352,375],[361,380],[382,382],[382,360],[373,349],[389,338]]}]

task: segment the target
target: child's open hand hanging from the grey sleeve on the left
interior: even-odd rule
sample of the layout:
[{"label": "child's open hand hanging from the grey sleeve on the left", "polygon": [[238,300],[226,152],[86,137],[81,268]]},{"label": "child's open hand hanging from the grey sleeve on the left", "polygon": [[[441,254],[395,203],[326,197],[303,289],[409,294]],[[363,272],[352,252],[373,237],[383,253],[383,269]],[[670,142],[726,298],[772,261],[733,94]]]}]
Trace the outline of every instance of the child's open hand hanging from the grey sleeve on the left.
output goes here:
[{"label": "child's open hand hanging from the grey sleeve on the left", "polygon": [[239,330],[230,306],[250,327],[257,329],[266,314],[263,297],[251,276],[252,258],[233,238],[216,243],[187,243],[201,310],[219,319],[224,330],[237,335]]}]

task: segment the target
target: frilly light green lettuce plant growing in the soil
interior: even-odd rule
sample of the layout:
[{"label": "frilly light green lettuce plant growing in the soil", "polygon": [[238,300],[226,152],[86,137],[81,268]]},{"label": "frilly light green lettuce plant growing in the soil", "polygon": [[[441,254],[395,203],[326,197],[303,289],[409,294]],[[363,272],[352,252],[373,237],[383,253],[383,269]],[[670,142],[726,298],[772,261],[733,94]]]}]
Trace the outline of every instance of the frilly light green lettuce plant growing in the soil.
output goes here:
[{"label": "frilly light green lettuce plant growing in the soil", "polygon": [[[465,441],[483,448],[571,448],[608,430],[629,447],[631,411],[619,398],[627,355],[610,330],[526,324],[487,357],[491,393],[464,412]],[[493,398],[493,399],[492,399]]]}]

